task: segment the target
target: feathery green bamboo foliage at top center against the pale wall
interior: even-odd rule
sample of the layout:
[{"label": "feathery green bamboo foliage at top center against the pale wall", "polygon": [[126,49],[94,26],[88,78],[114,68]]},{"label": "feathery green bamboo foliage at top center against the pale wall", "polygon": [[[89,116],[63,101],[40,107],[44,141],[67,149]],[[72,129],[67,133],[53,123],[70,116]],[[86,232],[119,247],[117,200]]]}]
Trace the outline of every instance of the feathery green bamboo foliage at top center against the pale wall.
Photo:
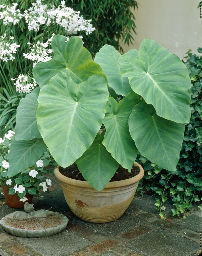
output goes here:
[{"label": "feathery green bamboo foliage at top center against the pale wall", "polygon": [[88,36],[84,35],[83,41],[93,57],[105,44],[123,53],[121,42],[129,45],[134,40],[132,32],[136,33],[136,26],[133,9],[138,8],[137,1],[67,0],[66,3],[80,11],[85,19],[92,20],[96,30]]}]

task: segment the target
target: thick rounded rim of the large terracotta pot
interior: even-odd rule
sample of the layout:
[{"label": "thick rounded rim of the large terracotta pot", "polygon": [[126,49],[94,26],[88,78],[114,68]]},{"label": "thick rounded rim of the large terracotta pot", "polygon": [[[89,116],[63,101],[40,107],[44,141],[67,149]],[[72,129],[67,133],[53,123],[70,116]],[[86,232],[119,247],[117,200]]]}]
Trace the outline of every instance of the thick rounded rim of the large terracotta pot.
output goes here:
[{"label": "thick rounded rim of the large terracotta pot", "polygon": [[[126,186],[126,185],[130,185],[130,184],[136,183],[139,180],[141,180],[144,176],[144,170],[139,163],[134,162],[134,165],[138,166],[140,168],[140,172],[136,176],[129,178],[129,179],[125,179],[125,180],[109,181],[109,183],[104,188]],[[62,182],[65,182],[65,183],[68,183],[68,184],[71,184],[74,186],[91,187],[92,188],[92,186],[88,183],[88,181],[75,180],[75,179],[66,177],[63,174],[61,174],[59,171],[59,165],[57,167],[55,167],[54,174],[55,174],[56,178],[58,178]]]}]

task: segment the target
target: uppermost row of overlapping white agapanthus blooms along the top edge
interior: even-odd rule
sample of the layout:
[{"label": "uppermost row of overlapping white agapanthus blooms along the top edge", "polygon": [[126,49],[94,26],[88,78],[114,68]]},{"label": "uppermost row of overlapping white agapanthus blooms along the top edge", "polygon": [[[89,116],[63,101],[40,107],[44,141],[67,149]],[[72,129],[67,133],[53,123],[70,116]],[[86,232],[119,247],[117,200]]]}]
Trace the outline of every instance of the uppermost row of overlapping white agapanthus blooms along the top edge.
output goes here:
[{"label": "uppermost row of overlapping white agapanthus blooms along the top edge", "polygon": [[55,23],[65,28],[67,35],[76,34],[78,31],[85,31],[88,35],[95,30],[91,20],[83,19],[79,16],[79,11],[66,7],[65,1],[61,1],[58,8],[55,6],[48,8],[47,4],[42,4],[42,0],[36,0],[28,10],[24,11],[24,14],[21,14],[19,9],[15,10],[17,5],[0,6],[6,8],[0,12],[0,19],[3,19],[4,25],[10,22],[14,25],[18,24],[19,20],[24,17],[30,31],[39,31],[41,25],[51,26]]}]

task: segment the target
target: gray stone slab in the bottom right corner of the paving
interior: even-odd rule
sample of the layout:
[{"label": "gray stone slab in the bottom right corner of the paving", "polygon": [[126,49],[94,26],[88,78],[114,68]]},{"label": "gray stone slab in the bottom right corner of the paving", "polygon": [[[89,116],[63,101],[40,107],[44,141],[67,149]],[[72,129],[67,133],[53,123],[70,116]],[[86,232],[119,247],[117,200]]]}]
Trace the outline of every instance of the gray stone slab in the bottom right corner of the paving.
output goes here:
[{"label": "gray stone slab in the bottom right corner of the paving", "polygon": [[196,242],[162,229],[150,231],[127,246],[147,256],[191,256],[200,250]]}]

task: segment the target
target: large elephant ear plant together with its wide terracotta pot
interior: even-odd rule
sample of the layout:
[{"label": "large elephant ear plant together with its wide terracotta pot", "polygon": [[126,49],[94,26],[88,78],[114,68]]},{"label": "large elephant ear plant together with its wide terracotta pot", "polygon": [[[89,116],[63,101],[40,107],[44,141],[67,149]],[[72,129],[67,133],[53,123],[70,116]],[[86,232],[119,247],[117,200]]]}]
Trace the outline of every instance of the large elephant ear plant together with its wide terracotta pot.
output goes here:
[{"label": "large elephant ear plant together with its wide terracotta pot", "polygon": [[[33,68],[39,87],[17,109],[8,175],[34,163],[47,146],[60,167],[76,164],[86,180],[55,169],[70,209],[83,220],[108,222],[124,213],[143,176],[134,164],[138,151],[175,172],[191,116],[191,80],[182,61],[151,39],[124,55],[105,45],[94,60],[80,38],[65,41],[54,36],[53,59]],[[119,167],[135,166],[140,172],[128,184],[110,181]]]}]

